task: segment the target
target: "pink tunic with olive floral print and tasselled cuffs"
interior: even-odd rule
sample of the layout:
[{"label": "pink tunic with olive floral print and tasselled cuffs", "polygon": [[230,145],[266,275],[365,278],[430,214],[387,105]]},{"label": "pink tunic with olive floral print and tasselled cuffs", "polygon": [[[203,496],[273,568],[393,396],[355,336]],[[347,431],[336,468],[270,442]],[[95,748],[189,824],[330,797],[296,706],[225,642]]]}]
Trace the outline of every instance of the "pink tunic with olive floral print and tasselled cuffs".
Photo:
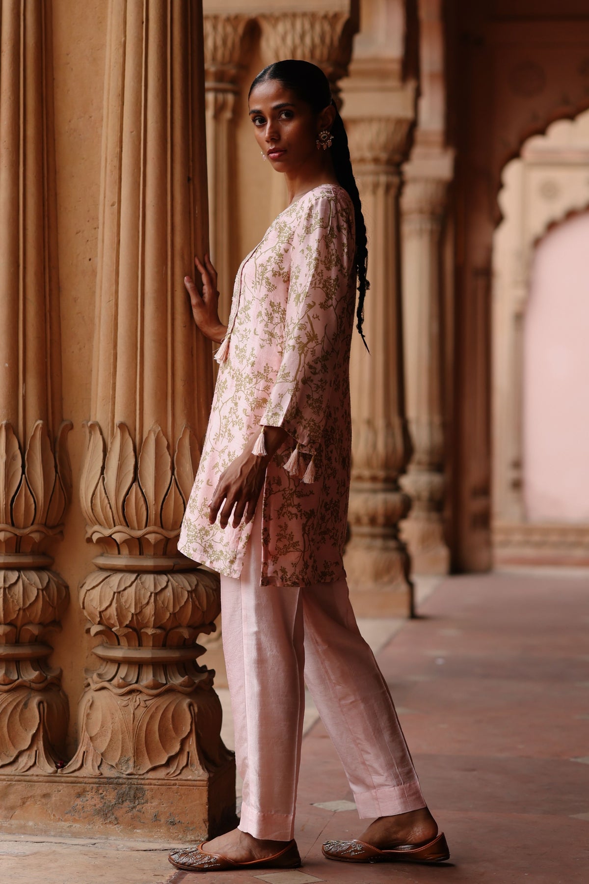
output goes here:
[{"label": "pink tunic with olive floral print and tasselled cuffs", "polygon": [[208,506],[223,470],[263,426],[283,427],[291,440],[268,463],[258,504],[261,584],[308,586],[345,575],[353,219],[343,187],[314,187],[276,217],[238,270],[178,542],[186,556],[223,575],[239,576],[252,524],[210,525]]}]

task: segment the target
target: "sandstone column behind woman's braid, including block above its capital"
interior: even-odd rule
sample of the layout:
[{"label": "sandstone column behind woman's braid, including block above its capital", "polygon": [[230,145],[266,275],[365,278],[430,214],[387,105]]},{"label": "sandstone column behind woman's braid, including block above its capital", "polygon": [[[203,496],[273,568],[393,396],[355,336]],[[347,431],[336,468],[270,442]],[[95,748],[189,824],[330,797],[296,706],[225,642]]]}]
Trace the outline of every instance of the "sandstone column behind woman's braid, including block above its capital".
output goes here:
[{"label": "sandstone column behind woman's braid, including block above its capital", "polygon": [[356,613],[413,610],[410,561],[399,522],[411,499],[399,479],[412,444],[404,405],[399,198],[417,100],[415,3],[362,4],[342,114],[368,236],[365,333],[351,353],[350,542],[344,563]]}]

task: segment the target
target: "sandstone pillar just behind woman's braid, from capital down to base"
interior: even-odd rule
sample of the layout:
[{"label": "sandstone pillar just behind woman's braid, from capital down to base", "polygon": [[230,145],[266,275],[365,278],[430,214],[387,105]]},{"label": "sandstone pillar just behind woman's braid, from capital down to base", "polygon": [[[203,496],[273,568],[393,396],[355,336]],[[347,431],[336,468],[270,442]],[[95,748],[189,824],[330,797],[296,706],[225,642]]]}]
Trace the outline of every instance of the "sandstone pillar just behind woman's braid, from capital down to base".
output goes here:
[{"label": "sandstone pillar just behind woman's braid, from capital down to base", "polygon": [[[400,164],[408,148],[407,118],[363,117],[366,98],[344,105],[351,160],[368,235],[365,335],[351,358],[351,537],[345,568],[360,615],[412,612],[409,556],[399,522],[411,501],[399,477],[411,455],[404,412],[399,232]],[[356,110],[356,113],[354,113]]]}]

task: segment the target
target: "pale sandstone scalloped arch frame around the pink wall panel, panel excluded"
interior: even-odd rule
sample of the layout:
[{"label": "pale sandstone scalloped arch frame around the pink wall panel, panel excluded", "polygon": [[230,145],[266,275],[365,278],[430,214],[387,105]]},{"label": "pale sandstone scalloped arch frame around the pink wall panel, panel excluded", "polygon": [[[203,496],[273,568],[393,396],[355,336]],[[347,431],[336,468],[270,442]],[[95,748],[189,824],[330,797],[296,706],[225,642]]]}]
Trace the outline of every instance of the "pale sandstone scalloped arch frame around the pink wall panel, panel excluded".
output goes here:
[{"label": "pale sandstone scalloped arch frame around the pink wall panel, panel excluded", "polygon": [[[560,160],[559,160],[560,156]],[[523,329],[536,248],[550,232],[589,211],[589,110],[553,120],[526,138],[502,169],[494,263],[495,520],[525,522]],[[543,191],[542,192],[542,188]]]}]

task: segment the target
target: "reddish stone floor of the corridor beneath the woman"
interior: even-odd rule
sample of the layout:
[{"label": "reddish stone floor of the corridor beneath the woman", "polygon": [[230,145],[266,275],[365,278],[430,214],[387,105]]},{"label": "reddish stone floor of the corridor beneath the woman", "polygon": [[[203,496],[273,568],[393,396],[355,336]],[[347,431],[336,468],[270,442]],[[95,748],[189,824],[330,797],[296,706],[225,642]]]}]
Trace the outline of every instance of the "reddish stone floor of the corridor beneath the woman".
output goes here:
[{"label": "reddish stone floor of the corridor beneath the woman", "polygon": [[[396,626],[390,623],[390,631]],[[377,646],[383,629],[371,636]],[[321,858],[321,842],[352,837],[362,824],[331,743],[311,714],[298,796],[303,868],[208,873],[198,880],[587,884],[588,631],[586,573],[499,573],[443,581],[420,604],[419,618],[382,648],[379,661],[423,789],[448,837],[448,864],[346,865]],[[0,836],[0,880],[197,880],[173,872],[163,847]]]}]

